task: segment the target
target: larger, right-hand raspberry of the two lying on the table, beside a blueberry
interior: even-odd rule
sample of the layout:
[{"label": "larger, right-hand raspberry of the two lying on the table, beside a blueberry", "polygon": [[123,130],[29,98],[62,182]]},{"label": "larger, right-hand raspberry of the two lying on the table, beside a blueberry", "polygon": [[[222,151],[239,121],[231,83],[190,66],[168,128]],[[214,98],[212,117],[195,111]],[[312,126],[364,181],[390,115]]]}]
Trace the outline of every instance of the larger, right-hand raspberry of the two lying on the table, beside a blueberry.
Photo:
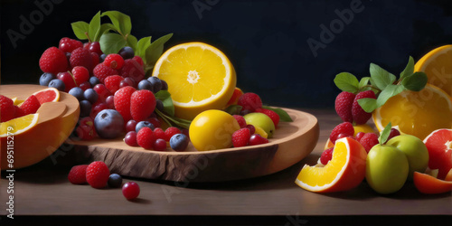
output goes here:
[{"label": "larger, right-hand raspberry of the two lying on the table, beside a blueberry", "polygon": [[92,162],[86,168],[86,181],[93,188],[103,188],[107,185],[110,171],[104,162]]}]

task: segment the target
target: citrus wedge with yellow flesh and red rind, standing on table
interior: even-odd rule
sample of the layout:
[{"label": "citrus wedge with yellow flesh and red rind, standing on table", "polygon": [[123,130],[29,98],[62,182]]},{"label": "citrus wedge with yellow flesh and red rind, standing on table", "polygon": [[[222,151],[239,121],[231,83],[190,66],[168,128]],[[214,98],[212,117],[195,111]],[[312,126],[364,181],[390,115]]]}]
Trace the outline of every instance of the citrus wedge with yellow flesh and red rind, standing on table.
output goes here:
[{"label": "citrus wedge with yellow flesh and red rind, standing on table", "polygon": [[365,177],[367,153],[350,137],[336,140],[333,157],[327,165],[305,165],[295,183],[315,193],[332,193],[353,189]]}]

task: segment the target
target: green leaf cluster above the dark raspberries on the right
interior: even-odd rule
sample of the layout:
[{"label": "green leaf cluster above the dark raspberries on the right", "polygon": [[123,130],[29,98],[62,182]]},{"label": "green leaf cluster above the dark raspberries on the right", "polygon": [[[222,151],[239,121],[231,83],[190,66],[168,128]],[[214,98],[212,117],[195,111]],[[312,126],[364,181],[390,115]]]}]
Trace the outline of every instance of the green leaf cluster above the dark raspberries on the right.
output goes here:
[{"label": "green leaf cluster above the dark raspberries on the right", "polygon": [[412,57],[410,57],[405,69],[400,72],[399,79],[374,63],[371,63],[369,72],[371,76],[363,77],[361,80],[358,80],[349,72],[341,72],[334,78],[334,84],[343,91],[355,94],[365,90],[375,92],[377,99],[358,99],[358,103],[366,112],[380,108],[388,99],[404,90],[420,91],[427,84],[427,75],[424,72],[414,72]]}]

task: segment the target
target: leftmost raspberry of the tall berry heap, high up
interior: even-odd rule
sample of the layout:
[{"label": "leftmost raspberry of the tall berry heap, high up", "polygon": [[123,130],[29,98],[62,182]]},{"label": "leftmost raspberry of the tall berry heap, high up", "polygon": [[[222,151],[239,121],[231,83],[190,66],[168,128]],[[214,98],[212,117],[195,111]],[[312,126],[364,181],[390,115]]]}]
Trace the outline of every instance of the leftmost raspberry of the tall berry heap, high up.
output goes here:
[{"label": "leftmost raspberry of the tall berry heap, high up", "polygon": [[68,69],[66,54],[56,47],[51,47],[42,53],[39,59],[41,71],[58,74]]}]

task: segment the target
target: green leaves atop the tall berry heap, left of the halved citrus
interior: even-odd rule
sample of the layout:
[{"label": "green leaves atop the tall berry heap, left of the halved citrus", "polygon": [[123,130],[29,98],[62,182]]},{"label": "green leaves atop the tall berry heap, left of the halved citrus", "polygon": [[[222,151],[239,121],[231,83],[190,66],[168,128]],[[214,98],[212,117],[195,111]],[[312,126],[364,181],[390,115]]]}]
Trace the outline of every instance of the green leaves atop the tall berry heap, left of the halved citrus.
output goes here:
[{"label": "green leaves atop the tall berry heap, left of the halved citrus", "polygon": [[[101,24],[101,18],[108,17],[111,23]],[[99,42],[100,49],[105,54],[118,53],[125,46],[131,47],[135,55],[140,56],[145,63],[145,71],[149,76],[154,69],[155,62],[164,51],[164,44],[173,36],[173,33],[152,42],[152,37],[137,37],[131,34],[132,22],[130,16],[118,11],[100,11],[88,23],[79,21],[71,24],[75,36],[88,42]]]}]

